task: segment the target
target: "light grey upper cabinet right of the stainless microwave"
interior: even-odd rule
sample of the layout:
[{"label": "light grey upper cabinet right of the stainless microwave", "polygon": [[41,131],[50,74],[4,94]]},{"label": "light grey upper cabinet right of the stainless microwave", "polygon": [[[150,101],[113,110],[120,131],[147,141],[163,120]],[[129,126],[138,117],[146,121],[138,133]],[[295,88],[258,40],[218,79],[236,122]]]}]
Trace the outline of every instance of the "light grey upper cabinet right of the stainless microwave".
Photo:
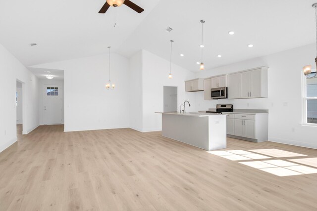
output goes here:
[{"label": "light grey upper cabinet right of the stainless microwave", "polygon": [[228,75],[228,98],[267,97],[267,67]]}]

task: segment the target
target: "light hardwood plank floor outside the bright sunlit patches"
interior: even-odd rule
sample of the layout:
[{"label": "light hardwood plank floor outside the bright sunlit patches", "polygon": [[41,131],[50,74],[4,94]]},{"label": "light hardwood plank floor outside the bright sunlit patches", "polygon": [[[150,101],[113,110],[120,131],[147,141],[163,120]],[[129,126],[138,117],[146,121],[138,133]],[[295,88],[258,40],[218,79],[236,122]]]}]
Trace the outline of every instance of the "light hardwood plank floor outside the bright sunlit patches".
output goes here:
[{"label": "light hardwood plank floor outside the bright sunlit patches", "polygon": [[[317,150],[273,142],[227,142],[227,150],[317,157]],[[317,174],[279,177],[161,132],[40,126],[0,153],[0,210],[316,211]]]}]

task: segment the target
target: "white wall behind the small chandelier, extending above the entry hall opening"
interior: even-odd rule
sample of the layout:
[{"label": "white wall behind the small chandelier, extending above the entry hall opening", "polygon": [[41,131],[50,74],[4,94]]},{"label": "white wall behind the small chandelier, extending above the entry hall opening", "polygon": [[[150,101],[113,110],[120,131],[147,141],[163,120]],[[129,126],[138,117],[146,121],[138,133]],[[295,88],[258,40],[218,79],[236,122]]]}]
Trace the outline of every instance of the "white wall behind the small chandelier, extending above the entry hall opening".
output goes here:
[{"label": "white wall behind the small chandelier, extending above the entry hall opening", "polygon": [[64,131],[129,127],[129,60],[111,53],[110,65],[113,90],[108,54],[32,66],[64,70]]}]

